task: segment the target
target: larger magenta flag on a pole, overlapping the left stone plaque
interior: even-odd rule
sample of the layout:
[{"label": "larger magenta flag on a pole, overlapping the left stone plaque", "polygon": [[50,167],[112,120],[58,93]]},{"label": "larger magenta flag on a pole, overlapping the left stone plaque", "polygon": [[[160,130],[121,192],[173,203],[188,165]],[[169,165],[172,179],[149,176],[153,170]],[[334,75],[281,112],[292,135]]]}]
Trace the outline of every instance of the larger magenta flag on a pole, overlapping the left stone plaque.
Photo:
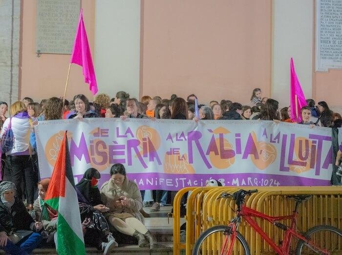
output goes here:
[{"label": "larger magenta flag on a pole, overlapping the left stone plaque", "polygon": [[80,12],[80,20],[78,22],[74,47],[71,53],[70,63],[75,63],[83,67],[83,75],[85,82],[89,83],[89,90],[91,93],[98,92],[93,61],[91,60],[91,53],[88,44],[88,39],[85,32],[85,24],[83,23],[83,10]]}]

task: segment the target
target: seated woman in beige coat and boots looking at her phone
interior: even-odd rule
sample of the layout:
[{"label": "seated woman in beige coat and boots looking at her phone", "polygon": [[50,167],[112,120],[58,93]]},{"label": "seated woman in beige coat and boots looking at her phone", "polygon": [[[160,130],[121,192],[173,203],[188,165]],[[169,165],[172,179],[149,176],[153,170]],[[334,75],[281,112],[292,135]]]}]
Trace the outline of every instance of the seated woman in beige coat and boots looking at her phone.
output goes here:
[{"label": "seated woman in beige coat and boots looking at her phone", "polygon": [[140,213],[143,200],[136,183],[129,181],[123,164],[114,164],[110,169],[111,178],[100,190],[101,200],[109,208],[108,222],[119,232],[138,239],[139,247],[157,246],[155,237],[144,226]]}]

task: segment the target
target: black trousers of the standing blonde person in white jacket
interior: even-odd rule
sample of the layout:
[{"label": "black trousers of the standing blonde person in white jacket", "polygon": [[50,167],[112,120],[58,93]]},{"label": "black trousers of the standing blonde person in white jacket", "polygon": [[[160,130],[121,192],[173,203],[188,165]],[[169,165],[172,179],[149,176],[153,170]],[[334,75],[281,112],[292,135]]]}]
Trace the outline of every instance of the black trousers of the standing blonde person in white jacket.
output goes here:
[{"label": "black trousers of the standing blonde person in white jacket", "polygon": [[17,187],[17,196],[22,197],[21,182],[25,182],[27,204],[33,204],[35,186],[38,183],[38,171],[28,155],[11,156],[6,158],[3,180],[13,182]]}]

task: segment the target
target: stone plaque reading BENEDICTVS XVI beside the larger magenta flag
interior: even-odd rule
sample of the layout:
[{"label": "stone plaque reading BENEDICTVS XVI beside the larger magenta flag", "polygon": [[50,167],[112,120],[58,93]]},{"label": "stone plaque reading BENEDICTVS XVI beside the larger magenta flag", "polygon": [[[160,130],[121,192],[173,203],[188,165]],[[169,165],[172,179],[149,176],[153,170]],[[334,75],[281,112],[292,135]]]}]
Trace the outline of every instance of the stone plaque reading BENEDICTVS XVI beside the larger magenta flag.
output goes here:
[{"label": "stone plaque reading BENEDICTVS XVI beside the larger magenta flag", "polygon": [[80,0],[37,0],[36,52],[71,54]]}]

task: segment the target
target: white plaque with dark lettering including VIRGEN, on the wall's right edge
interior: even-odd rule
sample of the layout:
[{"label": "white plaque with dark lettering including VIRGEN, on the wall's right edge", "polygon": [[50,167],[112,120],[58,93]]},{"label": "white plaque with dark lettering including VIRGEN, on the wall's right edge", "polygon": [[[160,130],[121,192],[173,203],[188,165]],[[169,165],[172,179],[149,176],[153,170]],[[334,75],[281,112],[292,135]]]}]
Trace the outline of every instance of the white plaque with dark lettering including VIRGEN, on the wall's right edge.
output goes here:
[{"label": "white plaque with dark lettering including VIRGEN, on the wall's right edge", "polygon": [[316,71],[342,69],[342,0],[316,0]]}]

